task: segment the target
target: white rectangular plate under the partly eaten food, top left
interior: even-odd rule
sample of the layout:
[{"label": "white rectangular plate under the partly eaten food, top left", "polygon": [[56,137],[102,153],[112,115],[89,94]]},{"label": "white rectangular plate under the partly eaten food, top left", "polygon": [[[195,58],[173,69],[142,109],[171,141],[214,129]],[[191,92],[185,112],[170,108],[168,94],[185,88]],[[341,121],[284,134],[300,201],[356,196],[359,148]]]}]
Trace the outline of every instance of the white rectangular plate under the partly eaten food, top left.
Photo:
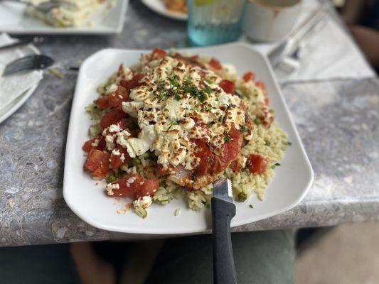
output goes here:
[{"label": "white rectangular plate under the partly eaten food, top left", "polygon": [[[114,0],[114,4],[102,7],[91,24],[80,27],[60,28],[25,13],[26,5],[1,1],[0,30],[12,34],[114,34],[121,33],[129,0]],[[107,4],[108,5],[108,4]]]}]

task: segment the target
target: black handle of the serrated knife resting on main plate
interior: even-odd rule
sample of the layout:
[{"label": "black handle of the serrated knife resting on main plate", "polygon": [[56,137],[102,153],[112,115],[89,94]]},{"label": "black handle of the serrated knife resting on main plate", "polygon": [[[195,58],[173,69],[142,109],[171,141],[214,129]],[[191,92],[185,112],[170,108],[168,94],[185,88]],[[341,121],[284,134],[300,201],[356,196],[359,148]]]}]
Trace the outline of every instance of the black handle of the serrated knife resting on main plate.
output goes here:
[{"label": "black handle of the serrated knife resting on main plate", "polygon": [[237,275],[233,258],[230,221],[235,204],[212,197],[213,283],[235,284]]}]

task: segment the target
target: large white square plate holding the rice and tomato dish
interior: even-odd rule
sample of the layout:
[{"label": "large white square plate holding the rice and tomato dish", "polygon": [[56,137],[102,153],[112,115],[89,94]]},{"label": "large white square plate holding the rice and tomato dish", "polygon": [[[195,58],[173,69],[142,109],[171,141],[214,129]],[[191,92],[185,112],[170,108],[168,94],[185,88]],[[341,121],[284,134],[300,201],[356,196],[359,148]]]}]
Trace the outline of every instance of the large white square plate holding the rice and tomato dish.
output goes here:
[{"label": "large white square plate holding the rice and tomato dish", "polygon": [[[270,106],[274,109],[277,124],[288,134],[292,142],[282,166],[277,167],[274,178],[266,189],[265,200],[252,195],[245,202],[235,202],[237,214],[231,226],[239,226],[280,214],[297,205],[306,195],[313,180],[313,170],[301,144],[299,134],[289,115],[282,93],[274,79],[264,55],[242,43],[219,45],[210,48],[188,48],[184,51],[201,56],[215,57],[221,62],[232,63],[238,75],[255,72],[257,80],[265,82]],[[68,140],[65,153],[63,195],[70,209],[88,224],[100,229],[133,234],[187,234],[209,231],[210,209],[196,212],[188,209],[183,199],[172,200],[162,206],[152,204],[149,214],[142,219],[126,206],[127,198],[119,201],[105,195],[105,181],[95,181],[83,170],[85,155],[82,143],[88,140],[87,129],[91,125],[85,107],[97,99],[97,86],[105,82],[122,62],[124,66],[139,60],[142,50],[101,50],[87,58],[80,68],[70,115]],[[252,205],[252,206],[250,206]],[[176,209],[181,208],[176,216]]]}]

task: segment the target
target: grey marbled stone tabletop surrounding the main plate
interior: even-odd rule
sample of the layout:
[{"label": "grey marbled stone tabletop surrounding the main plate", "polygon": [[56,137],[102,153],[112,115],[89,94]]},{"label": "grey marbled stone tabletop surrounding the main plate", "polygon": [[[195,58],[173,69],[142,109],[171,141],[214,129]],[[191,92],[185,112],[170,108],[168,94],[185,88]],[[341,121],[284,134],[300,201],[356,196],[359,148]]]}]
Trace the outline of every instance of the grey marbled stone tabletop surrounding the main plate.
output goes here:
[{"label": "grey marbled stone tabletop surrounding the main plate", "polygon": [[[40,49],[74,64],[107,47],[186,46],[185,23],[129,4],[121,35],[48,36]],[[33,96],[0,124],[0,246],[130,238],[95,229],[62,195],[65,140],[76,75],[46,73]],[[379,80],[282,83],[314,168],[304,200],[235,231],[328,226],[379,219]]]}]

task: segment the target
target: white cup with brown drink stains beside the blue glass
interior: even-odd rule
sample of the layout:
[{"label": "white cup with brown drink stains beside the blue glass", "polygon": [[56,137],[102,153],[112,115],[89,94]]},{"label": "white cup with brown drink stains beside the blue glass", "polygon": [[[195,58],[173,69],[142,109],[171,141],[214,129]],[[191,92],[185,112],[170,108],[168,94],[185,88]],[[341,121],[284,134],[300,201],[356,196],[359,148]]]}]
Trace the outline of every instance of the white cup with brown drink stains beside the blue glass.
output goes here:
[{"label": "white cup with brown drink stains beside the blue glass", "polygon": [[301,11],[301,0],[249,0],[242,28],[254,41],[283,39],[294,27]]}]

